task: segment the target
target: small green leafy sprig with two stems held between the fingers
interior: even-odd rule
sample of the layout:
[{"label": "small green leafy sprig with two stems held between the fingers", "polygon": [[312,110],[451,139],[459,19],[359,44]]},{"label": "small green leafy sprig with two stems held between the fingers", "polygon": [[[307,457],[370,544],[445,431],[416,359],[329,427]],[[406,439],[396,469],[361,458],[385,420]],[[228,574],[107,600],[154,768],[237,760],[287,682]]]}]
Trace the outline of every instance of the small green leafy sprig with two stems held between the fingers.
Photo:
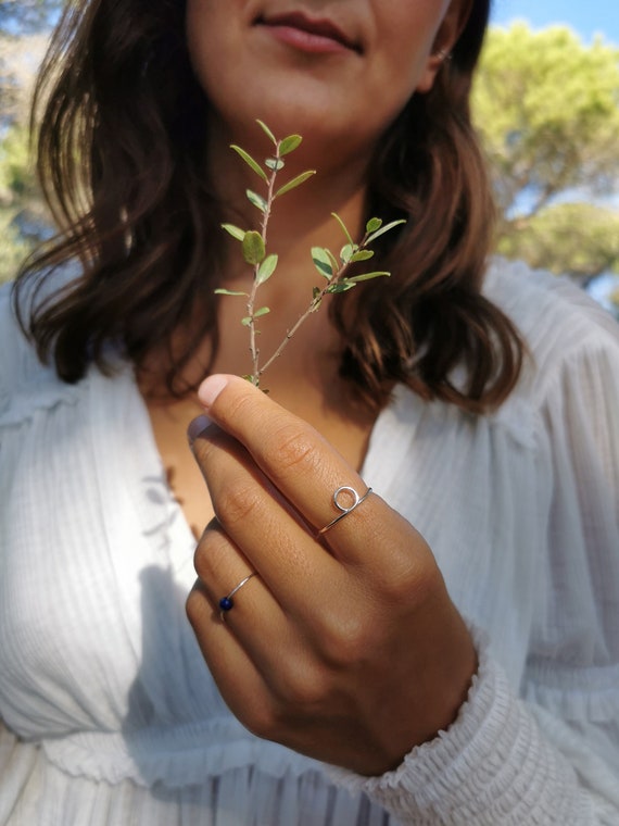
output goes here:
[{"label": "small green leafy sprig with two stems held between the fingers", "polygon": [[368,249],[372,241],[381,235],[384,235],[384,233],[390,231],[395,226],[405,223],[404,220],[400,220],[383,225],[380,218],[370,218],[365,226],[363,238],[357,243],[353,241],[342,218],[336,212],[332,212],[331,215],[339,223],[343,231],[345,243],[338,256],[326,247],[312,248],[312,261],[318,273],[325,279],[325,284],[321,287],[314,287],[312,298],[305,311],[299,316],[292,327],[290,327],[273,354],[261,365],[260,348],[257,346],[260,329],[256,322],[258,318],[267,315],[270,310],[268,306],[258,306],[257,292],[260,287],[273,276],[278,264],[278,255],[273,252],[267,253],[267,231],[273,205],[278,198],[281,198],[281,196],[308,180],[316,174],[316,170],[306,170],[276,188],[278,175],[286,166],[286,161],[283,160],[285,157],[299,148],[302,137],[301,135],[289,135],[286,138],[277,139],[265,123],[257,121],[257,124],[275,148],[273,155],[264,161],[264,165],[257,163],[257,161],[255,161],[249,152],[241,147],[232,145],[230,148],[242,158],[247,165],[261,178],[263,185],[266,186],[266,193],[264,196],[254,192],[252,189],[245,191],[249,202],[262,213],[261,228],[260,230],[245,230],[233,224],[222,224],[223,229],[231,235],[232,238],[236,238],[241,242],[243,259],[245,263],[253,268],[252,287],[250,292],[243,290],[230,290],[224,287],[219,287],[215,290],[215,292],[220,296],[241,296],[247,299],[247,313],[242,317],[241,323],[245,327],[249,327],[252,372],[244,376],[244,378],[256,387],[260,386],[260,379],[265,371],[281,355],[286,346],[301,325],[307,321],[312,313],[315,313],[320,308],[323,299],[326,296],[346,292],[348,290],[353,289],[353,287],[356,287],[361,281],[391,275],[391,273],[386,271],[374,271],[362,273],[361,275],[349,276],[348,272],[352,264],[356,264],[361,261],[369,261],[369,259],[374,256],[374,251]]}]

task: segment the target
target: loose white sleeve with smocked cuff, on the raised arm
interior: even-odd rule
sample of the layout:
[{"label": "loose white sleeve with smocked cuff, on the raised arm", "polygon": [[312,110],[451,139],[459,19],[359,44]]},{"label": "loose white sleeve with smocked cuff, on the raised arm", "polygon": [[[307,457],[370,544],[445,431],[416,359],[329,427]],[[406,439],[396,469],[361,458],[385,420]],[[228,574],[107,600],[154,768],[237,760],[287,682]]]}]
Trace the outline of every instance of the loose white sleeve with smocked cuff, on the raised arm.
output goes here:
[{"label": "loose white sleeve with smocked cuff, on the raised arm", "polygon": [[619,327],[540,278],[527,393],[553,490],[521,684],[473,629],[480,668],[449,730],[381,777],[333,769],[403,824],[619,824]]}]

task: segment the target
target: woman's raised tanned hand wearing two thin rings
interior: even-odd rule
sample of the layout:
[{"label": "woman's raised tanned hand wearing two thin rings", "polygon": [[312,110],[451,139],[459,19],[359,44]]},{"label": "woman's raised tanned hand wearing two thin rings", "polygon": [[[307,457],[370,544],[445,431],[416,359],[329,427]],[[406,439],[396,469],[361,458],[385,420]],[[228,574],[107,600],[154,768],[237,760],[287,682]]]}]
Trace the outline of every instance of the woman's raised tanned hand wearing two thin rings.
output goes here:
[{"label": "woman's raised tanned hand wearing two thin rings", "polygon": [[[421,536],[302,420],[244,379],[200,398],[193,442],[216,518],[195,552],[187,611],[222,694],[260,737],[378,775],[446,728],[477,661]],[[369,480],[371,483],[371,480]],[[219,616],[219,599],[251,572]]]}]

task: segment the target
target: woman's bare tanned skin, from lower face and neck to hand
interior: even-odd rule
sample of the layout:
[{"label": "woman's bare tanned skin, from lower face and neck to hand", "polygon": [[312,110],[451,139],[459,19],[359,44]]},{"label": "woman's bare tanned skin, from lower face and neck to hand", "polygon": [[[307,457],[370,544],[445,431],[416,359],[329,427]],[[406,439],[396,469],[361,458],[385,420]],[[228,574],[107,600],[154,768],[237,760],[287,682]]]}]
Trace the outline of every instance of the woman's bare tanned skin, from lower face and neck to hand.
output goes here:
[{"label": "woman's bare tanned skin, from lower face and neck to hand", "polygon": [[[256,117],[301,133],[295,163],[319,171],[273,221],[265,351],[311,295],[310,247],[341,246],[330,211],[361,228],[376,141],[431,87],[466,11],[466,0],[189,0],[191,59],[214,110],[210,172],[235,223],[255,218],[243,192],[256,182],[228,145],[264,157]],[[233,243],[226,280],[243,283]],[[222,301],[216,373],[248,372],[241,314]],[[268,396],[235,375],[206,379],[199,402],[216,424],[193,425],[193,470],[179,424],[195,400],[163,413],[148,403],[164,461],[185,456],[174,470],[188,518],[209,523],[188,615],[224,698],[260,736],[370,775],[453,722],[476,654],[431,550],[378,496],[315,537],[337,487],[371,484],[358,472],[375,414],[338,376],[341,346],[321,312],[274,365]],[[251,571],[223,623],[218,600]]]}]

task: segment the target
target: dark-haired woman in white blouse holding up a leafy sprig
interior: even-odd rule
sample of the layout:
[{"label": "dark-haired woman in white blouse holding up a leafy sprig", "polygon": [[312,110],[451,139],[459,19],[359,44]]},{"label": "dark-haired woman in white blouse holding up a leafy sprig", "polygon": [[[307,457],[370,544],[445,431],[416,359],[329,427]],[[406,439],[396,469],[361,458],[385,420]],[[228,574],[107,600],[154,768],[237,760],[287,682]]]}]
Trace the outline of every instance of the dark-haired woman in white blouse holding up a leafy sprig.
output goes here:
[{"label": "dark-haired woman in white blouse holding up a leafy sprig", "polygon": [[[619,821],[619,337],[487,272],[488,11],[65,13],[39,87],[62,231],[0,325],[1,823]],[[407,222],[268,395],[214,295],[250,289],[219,224],[257,223],[229,149],[268,154],[256,118],[304,137],[282,176],[318,171],[269,222],[261,352],[330,212]]]}]

